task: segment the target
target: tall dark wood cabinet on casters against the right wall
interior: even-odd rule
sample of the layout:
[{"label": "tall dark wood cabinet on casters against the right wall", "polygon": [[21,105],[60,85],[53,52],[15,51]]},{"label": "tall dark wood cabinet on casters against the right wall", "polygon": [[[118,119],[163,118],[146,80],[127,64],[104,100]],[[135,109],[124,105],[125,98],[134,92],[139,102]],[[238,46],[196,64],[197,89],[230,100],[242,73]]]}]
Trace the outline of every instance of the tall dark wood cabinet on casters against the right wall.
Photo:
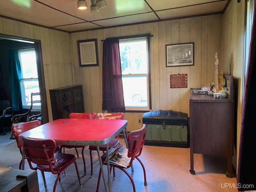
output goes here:
[{"label": "tall dark wood cabinet on casters against the right wall", "polygon": [[195,174],[194,153],[222,155],[228,158],[232,174],[234,142],[233,77],[224,75],[230,92],[228,98],[214,99],[206,94],[190,92],[190,173]]}]

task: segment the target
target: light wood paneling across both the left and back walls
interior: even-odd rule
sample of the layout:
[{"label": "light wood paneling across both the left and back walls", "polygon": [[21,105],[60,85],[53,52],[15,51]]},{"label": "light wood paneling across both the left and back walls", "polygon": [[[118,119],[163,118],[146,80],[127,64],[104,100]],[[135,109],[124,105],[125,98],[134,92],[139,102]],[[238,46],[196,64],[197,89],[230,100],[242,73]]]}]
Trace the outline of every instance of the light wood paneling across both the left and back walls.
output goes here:
[{"label": "light wood paneling across both the left and back walls", "polygon": [[[152,110],[172,109],[189,115],[190,88],[214,82],[214,56],[220,52],[220,31],[225,26],[221,22],[222,15],[216,14],[69,34],[0,18],[0,33],[41,41],[49,120],[52,110],[48,90],[72,84],[83,85],[86,112],[102,112],[101,40],[146,33],[153,35],[150,38]],[[100,66],[79,67],[77,40],[92,38],[98,40]],[[186,42],[194,42],[194,66],[166,67],[166,44]],[[170,74],[178,73],[188,74],[188,88],[170,88]],[[140,128],[138,118],[142,115],[125,114],[129,131]]]}]

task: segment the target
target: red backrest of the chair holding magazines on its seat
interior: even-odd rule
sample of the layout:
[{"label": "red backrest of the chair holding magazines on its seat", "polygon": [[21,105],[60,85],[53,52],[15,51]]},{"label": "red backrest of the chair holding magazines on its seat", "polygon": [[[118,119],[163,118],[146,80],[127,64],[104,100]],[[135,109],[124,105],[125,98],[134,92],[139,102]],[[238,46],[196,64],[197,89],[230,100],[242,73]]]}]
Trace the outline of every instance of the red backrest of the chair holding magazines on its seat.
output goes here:
[{"label": "red backrest of the chair holding magazines on its seat", "polygon": [[141,129],[131,131],[128,134],[128,157],[132,157],[132,160],[134,160],[135,157],[140,156],[146,139],[146,132],[146,124],[142,124]]}]

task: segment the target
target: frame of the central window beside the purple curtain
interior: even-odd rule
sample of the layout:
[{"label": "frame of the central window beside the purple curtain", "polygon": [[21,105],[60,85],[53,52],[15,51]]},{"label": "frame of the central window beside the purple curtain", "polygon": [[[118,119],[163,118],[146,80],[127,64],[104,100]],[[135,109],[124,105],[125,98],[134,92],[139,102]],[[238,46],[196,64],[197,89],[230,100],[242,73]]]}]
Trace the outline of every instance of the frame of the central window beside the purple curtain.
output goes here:
[{"label": "frame of the central window beside the purple curtain", "polygon": [[[130,36],[122,36],[122,37],[115,37],[118,38],[119,41],[130,41],[132,39],[136,40],[139,38],[146,38],[147,40],[147,53],[148,53],[148,73],[147,73],[147,90],[148,90],[148,106],[147,107],[125,107],[126,112],[148,112],[152,109],[152,101],[151,101],[151,75],[150,75],[150,37],[152,35],[150,34],[139,34],[139,35],[130,35]],[[130,74],[130,76],[139,76],[142,74]],[[144,75],[144,74],[143,74]],[[129,76],[129,75],[124,75],[124,76]],[[123,77],[123,74],[122,74]]]}]

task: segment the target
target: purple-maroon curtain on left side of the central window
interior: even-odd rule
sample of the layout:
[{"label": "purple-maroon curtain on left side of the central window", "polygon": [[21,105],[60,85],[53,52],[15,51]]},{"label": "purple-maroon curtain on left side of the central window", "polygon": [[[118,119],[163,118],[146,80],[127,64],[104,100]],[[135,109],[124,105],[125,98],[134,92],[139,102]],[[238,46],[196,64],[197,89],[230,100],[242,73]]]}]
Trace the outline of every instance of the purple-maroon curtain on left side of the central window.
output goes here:
[{"label": "purple-maroon curtain on left side of the central window", "polygon": [[119,40],[117,38],[104,40],[102,63],[102,110],[125,111]]}]

